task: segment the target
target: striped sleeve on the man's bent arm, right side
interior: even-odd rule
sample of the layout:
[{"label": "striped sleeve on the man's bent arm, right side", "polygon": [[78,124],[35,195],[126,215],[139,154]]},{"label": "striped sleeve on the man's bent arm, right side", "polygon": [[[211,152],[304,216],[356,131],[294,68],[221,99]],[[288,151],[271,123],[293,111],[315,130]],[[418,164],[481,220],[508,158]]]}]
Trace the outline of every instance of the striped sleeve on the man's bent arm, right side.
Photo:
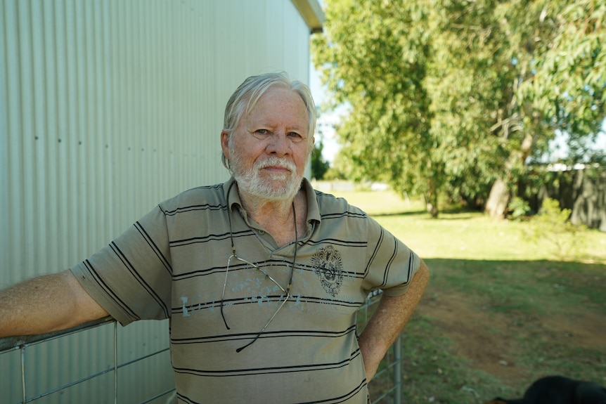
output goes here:
[{"label": "striped sleeve on the man's bent arm, right side", "polygon": [[400,296],[418,271],[420,259],[397,237],[368,217],[368,267],[364,289],[382,289],[385,296]]}]

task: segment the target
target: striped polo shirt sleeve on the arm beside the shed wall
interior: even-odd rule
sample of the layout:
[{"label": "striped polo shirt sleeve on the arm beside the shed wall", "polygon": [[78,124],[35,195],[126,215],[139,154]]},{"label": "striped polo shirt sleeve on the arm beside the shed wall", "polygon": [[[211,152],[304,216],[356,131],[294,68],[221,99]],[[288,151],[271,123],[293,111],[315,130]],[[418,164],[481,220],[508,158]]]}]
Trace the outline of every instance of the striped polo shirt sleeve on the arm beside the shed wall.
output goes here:
[{"label": "striped polo shirt sleeve on the arm beside the shed wall", "polygon": [[160,207],[70,269],[86,292],[122,325],[170,316],[171,257],[166,216]]}]

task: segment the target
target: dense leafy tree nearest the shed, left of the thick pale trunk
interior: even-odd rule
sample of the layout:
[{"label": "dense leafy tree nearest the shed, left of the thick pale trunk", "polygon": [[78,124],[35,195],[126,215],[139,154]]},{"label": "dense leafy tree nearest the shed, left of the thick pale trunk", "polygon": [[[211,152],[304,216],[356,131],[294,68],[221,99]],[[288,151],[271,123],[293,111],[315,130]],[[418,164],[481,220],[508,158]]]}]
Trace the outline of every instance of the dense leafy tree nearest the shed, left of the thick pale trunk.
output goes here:
[{"label": "dense leafy tree nearest the shed, left of the thick pale trunk", "polygon": [[511,63],[491,40],[493,7],[327,3],[314,61],[335,103],[351,107],[338,133],[357,178],[419,193],[433,216],[445,188],[470,200],[487,193],[504,157],[486,134],[503,115],[495,112],[503,81],[512,82]]}]

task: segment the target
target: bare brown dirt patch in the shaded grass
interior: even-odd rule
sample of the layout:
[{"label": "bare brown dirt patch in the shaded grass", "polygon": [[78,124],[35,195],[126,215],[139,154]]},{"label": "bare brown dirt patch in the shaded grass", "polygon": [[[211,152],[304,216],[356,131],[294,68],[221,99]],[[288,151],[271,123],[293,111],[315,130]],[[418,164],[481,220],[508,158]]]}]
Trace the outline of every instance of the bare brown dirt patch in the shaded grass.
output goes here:
[{"label": "bare brown dirt patch in the shaded grass", "polygon": [[[531,377],[515,360],[520,332],[538,334],[549,344],[606,347],[606,321],[595,313],[554,315],[529,322],[515,315],[492,313],[456,292],[426,296],[417,310],[434,320],[441,334],[453,341],[456,356],[470,360],[472,367],[501,377],[508,384]],[[522,330],[516,326],[520,323],[524,324]]]}]

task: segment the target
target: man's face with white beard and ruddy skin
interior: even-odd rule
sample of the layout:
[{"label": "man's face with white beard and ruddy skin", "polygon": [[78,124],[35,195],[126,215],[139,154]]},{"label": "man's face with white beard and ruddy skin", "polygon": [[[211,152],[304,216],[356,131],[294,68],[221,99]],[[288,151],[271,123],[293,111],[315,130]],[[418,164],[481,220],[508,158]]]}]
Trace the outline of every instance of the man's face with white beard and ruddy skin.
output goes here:
[{"label": "man's face with white beard and ruddy skin", "polygon": [[221,132],[221,148],[240,192],[288,200],[299,190],[313,139],[307,109],[295,91],[273,87],[240,119],[231,141]]}]

